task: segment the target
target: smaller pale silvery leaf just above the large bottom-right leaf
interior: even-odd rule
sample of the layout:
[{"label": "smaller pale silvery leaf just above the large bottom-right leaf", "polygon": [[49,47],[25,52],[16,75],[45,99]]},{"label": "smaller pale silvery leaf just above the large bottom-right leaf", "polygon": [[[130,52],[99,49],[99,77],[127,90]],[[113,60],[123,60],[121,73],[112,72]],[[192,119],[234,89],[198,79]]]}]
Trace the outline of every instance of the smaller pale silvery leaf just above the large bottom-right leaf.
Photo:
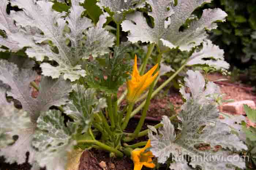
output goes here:
[{"label": "smaller pale silvery leaf just above the large bottom-right leaf", "polygon": [[191,94],[185,92],[185,87],[181,86],[180,93],[188,101],[191,98],[198,101],[202,105],[209,102],[214,102],[214,94],[220,95],[219,86],[213,82],[205,84],[203,75],[199,71],[187,71],[187,77],[184,78],[185,86],[189,87]]}]

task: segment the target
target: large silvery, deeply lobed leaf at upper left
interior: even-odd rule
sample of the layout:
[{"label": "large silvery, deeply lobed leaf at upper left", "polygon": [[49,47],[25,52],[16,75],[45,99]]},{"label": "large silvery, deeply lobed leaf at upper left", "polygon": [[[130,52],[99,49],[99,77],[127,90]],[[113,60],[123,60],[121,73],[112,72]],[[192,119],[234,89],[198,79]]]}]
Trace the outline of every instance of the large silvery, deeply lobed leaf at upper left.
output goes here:
[{"label": "large silvery, deeply lobed leaf at upper left", "polygon": [[[18,25],[23,27],[37,27],[44,35],[35,35],[34,43],[24,43],[29,46],[26,53],[31,58],[42,61],[45,56],[49,60],[55,60],[59,66],[53,67],[48,63],[41,64],[42,74],[59,78],[64,74],[64,79],[75,81],[86,73],[81,69],[79,62],[89,58],[90,55],[97,56],[106,54],[108,47],[113,45],[114,38],[108,31],[102,28],[105,23],[105,16],[101,16],[98,24],[93,26],[91,20],[81,18],[84,12],[78,0],[72,0],[72,7],[67,16],[68,25],[63,16],[52,9],[50,1],[12,0],[13,5],[22,8],[23,11],[14,12],[13,18]],[[67,31],[66,27],[69,27]],[[90,27],[90,28],[89,28]],[[89,28],[88,32],[86,29]],[[85,32],[85,35],[83,34]],[[22,36],[22,35],[21,35]],[[51,41],[57,52],[53,52],[45,41]]]}]

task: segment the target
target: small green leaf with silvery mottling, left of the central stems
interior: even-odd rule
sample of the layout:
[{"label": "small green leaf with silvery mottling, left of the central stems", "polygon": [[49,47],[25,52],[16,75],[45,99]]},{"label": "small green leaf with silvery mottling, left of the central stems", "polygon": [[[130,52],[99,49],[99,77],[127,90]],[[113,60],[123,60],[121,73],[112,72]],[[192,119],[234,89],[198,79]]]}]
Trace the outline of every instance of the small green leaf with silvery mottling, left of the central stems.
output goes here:
[{"label": "small green leaf with silvery mottling, left of the central stems", "polygon": [[84,88],[82,85],[73,87],[74,92],[70,95],[71,102],[64,107],[65,114],[75,119],[75,123],[83,127],[82,133],[87,132],[93,114],[107,107],[106,99],[97,99],[96,91],[92,88]]}]

